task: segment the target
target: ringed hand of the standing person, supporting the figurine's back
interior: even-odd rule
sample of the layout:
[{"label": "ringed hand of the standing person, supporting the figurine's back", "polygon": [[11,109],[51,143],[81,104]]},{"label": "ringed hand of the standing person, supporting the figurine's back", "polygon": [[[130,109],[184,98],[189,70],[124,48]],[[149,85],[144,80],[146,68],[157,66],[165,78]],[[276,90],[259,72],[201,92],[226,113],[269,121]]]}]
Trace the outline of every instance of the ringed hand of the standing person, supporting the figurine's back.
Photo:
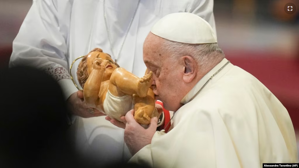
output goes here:
[{"label": "ringed hand of the standing person, supporting the figurine's back", "polygon": [[[97,109],[89,107],[84,103],[84,96],[82,91],[77,91],[71,94],[67,100],[68,108],[73,115],[77,115],[83,118],[98,117],[106,115]],[[92,112],[92,113],[91,113]]]}]

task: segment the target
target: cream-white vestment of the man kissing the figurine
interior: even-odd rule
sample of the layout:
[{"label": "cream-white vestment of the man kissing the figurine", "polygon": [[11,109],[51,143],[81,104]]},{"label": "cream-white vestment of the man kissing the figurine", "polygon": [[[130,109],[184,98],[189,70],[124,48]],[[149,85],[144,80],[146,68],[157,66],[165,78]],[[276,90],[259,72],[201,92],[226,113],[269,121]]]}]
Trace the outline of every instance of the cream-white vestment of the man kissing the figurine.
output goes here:
[{"label": "cream-white vestment of the man kissing the figurine", "polygon": [[167,134],[129,162],[151,167],[252,168],[298,163],[295,131],[286,108],[255,77],[223,59],[181,101]]}]

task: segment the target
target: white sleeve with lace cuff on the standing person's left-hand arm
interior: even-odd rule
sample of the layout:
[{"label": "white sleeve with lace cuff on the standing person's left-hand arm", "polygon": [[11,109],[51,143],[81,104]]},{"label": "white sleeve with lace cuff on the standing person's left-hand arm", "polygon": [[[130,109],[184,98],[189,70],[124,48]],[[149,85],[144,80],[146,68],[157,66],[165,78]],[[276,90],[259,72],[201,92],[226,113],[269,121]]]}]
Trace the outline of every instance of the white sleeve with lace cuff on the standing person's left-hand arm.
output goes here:
[{"label": "white sleeve with lace cuff on the standing person's left-hand arm", "polygon": [[72,1],[33,0],[13,41],[9,66],[39,67],[61,85],[65,98],[77,91],[68,71],[68,35]]}]

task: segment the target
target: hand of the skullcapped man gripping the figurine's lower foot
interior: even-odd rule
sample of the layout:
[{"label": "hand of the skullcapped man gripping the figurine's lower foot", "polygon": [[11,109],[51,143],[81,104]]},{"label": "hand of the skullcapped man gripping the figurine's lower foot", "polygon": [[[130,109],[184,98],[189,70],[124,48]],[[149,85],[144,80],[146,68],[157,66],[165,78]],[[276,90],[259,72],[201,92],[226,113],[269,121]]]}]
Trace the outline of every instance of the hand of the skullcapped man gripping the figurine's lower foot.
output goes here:
[{"label": "hand of the skullcapped man gripping the figurine's lower foot", "polygon": [[157,129],[158,118],[153,117],[147,129],[144,129],[134,119],[134,110],[129,111],[126,116],[126,128],[124,140],[132,155],[135,155],[140,149],[152,141]]}]

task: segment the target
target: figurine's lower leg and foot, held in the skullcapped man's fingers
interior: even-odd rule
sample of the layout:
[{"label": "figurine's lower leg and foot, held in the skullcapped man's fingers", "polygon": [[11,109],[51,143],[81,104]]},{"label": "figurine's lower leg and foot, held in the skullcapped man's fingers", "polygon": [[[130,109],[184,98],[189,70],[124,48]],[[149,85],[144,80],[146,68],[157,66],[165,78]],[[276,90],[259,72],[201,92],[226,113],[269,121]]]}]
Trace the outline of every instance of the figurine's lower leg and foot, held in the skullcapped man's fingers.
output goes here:
[{"label": "figurine's lower leg and foot, held in the skullcapped man's fingers", "polygon": [[148,125],[152,117],[159,117],[155,108],[155,95],[152,89],[149,89],[146,97],[134,96],[134,118],[144,125]]}]

